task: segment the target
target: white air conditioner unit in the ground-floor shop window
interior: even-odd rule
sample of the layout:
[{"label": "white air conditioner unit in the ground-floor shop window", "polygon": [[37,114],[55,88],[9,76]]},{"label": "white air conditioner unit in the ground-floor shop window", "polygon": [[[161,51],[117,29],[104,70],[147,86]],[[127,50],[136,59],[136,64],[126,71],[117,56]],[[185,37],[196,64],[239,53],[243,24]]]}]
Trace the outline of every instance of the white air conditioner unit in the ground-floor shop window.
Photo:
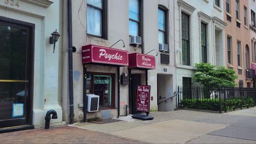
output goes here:
[{"label": "white air conditioner unit in the ground-floor shop window", "polygon": [[94,112],[98,111],[98,102],[100,101],[100,96],[94,94],[87,94],[88,97],[88,104],[87,104],[87,111]]}]

